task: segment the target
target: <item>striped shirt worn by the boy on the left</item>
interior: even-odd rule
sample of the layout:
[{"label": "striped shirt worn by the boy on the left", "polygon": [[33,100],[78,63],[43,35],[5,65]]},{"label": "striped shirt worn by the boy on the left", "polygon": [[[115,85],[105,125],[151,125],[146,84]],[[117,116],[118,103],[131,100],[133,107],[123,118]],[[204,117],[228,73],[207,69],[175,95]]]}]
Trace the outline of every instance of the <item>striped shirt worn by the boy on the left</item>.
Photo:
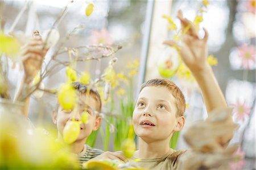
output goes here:
[{"label": "striped shirt worn by the boy on the left", "polygon": [[86,161],[92,159],[93,157],[96,157],[103,153],[104,153],[104,151],[98,150],[96,148],[92,148],[92,147],[88,146],[87,144],[85,144],[84,150],[80,154],[78,154],[79,164],[82,166],[82,163],[85,163]]}]

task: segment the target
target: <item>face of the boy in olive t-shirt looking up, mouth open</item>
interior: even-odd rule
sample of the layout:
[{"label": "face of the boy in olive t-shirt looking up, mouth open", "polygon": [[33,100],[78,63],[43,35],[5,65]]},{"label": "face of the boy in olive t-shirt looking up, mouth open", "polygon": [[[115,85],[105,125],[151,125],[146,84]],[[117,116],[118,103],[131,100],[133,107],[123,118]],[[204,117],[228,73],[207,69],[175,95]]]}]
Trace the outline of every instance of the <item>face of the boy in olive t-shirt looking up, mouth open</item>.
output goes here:
[{"label": "face of the boy in olive t-shirt looking up, mouth open", "polygon": [[135,133],[148,142],[170,140],[183,127],[176,112],[175,98],[167,88],[147,86],[139,93],[133,112]]}]

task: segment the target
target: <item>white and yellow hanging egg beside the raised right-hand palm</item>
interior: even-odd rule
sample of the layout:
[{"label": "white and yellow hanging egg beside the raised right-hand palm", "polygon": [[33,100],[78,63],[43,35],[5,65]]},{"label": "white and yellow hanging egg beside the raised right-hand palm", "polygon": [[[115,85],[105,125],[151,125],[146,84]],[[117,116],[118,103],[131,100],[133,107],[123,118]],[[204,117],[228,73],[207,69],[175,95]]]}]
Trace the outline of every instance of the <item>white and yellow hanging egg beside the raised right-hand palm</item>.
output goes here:
[{"label": "white and yellow hanging egg beside the raised right-hand palm", "polygon": [[158,61],[158,72],[164,78],[171,78],[180,65],[180,55],[174,47],[164,49]]}]

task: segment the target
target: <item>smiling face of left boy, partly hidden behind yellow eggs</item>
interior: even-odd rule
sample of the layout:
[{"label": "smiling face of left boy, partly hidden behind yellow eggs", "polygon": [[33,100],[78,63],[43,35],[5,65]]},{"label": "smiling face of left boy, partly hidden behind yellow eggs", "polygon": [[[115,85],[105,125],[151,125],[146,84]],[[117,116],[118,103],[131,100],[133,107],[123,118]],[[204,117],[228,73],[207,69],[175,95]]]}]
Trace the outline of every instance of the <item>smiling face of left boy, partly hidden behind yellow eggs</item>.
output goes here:
[{"label": "smiling face of left boy, partly hidden behind yellow eggs", "polygon": [[101,123],[101,118],[96,117],[94,110],[97,110],[98,103],[96,99],[92,96],[86,98],[85,95],[81,94],[79,96],[79,106],[77,108],[77,113],[73,114],[73,110],[64,110],[59,106],[57,115],[53,115],[53,122],[57,125],[59,135],[63,136],[63,129],[67,121],[71,121],[74,117],[76,121],[81,121],[81,114],[83,111],[88,111],[89,118],[86,124],[82,123],[80,125],[80,134],[76,141],[86,139],[92,131],[98,129]]}]

